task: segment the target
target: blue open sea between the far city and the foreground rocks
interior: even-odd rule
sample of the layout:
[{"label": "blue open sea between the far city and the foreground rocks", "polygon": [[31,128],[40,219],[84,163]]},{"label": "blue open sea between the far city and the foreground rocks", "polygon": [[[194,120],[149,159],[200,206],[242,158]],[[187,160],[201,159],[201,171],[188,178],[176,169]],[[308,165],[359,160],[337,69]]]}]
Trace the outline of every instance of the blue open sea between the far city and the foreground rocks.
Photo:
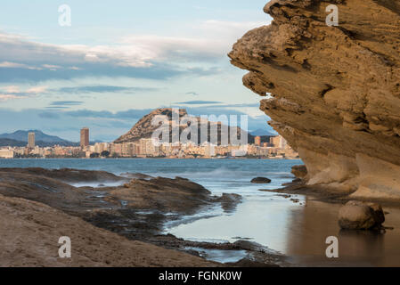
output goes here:
[{"label": "blue open sea between the far city and the foreground rocks", "polygon": [[[256,176],[273,180],[265,188],[290,182],[290,169],[301,160],[283,159],[0,159],[0,167],[44,167],[143,173],[152,176],[189,178],[214,193],[257,193],[259,185],[249,183]],[[246,186],[244,188],[244,186]],[[239,191],[239,192],[238,192]]]}]

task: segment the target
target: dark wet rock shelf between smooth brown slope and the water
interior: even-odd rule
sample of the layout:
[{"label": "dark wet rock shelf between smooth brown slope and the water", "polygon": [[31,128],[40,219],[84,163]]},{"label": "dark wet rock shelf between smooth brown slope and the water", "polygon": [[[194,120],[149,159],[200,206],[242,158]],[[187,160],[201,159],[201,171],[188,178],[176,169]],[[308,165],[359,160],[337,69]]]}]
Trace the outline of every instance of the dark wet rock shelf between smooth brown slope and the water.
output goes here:
[{"label": "dark wet rock shelf between smooth brown slope and the water", "polygon": [[[229,264],[230,266],[277,266],[284,263],[284,256],[271,254],[267,248],[247,240],[234,243],[190,241],[163,232],[167,221],[182,219],[213,205],[221,205],[224,210],[232,211],[241,202],[240,195],[212,196],[201,185],[179,177],[130,180],[132,177],[109,173],[107,181],[119,180],[125,184],[102,188],[74,187],[70,184],[96,179],[97,183],[102,183],[99,176],[104,175],[104,172],[78,169],[0,168],[0,200],[3,200],[3,197],[33,200],[40,205],[61,210],[66,215],[76,216],[96,228],[115,232],[127,240],[140,240],[165,250],[175,249],[189,254],[186,259],[190,259],[190,256],[200,256],[200,252],[192,248],[204,248],[246,250],[249,256],[252,256],[253,260],[245,258]],[[66,181],[68,183],[65,183]],[[18,216],[18,211],[16,213]],[[159,250],[164,250],[161,248]],[[209,262],[209,265],[220,265],[202,260]],[[201,263],[199,265],[204,266]]]}]

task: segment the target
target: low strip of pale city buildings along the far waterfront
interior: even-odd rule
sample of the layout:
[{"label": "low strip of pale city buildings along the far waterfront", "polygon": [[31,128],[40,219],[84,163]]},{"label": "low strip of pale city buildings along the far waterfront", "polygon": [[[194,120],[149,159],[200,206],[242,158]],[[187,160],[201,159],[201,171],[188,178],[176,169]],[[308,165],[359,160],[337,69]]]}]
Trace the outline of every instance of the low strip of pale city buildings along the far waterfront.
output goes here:
[{"label": "low strip of pale city buildings along the far waterfront", "polygon": [[198,145],[188,143],[154,143],[150,138],[137,142],[96,142],[86,145],[88,133],[83,132],[81,146],[60,146],[41,148],[5,147],[0,148],[0,158],[180,158],[180,159],[213,159],[213,158],[268,158],[295,159],[298,153],[293,151],[282,136],[272,136],[269,142],[257,145],[215,145],[203,142]]}]

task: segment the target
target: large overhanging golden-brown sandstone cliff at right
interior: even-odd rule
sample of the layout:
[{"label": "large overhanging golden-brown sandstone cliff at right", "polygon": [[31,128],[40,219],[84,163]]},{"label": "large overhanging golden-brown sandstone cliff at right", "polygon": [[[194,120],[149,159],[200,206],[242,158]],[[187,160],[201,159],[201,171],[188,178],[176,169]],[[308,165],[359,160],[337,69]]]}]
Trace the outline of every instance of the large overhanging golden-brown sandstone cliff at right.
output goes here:
[{"label": "large overhanging golden-brown sandstone cliff at right", "polygon": [[[339,26],[329,27],[329,4]],[[229,54],[309,184],[400,199],[400,1],[273,0]]]}]

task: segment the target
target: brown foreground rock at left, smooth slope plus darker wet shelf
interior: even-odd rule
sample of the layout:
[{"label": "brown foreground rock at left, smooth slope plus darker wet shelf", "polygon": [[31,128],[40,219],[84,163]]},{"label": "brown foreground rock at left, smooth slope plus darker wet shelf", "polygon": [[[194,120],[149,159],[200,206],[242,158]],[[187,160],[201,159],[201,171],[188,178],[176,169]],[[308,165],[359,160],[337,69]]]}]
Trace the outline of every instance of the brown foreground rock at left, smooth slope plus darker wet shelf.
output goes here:
[{"label": "brown foreground rock at left, smooth slope plus darker wet shelf", "polygon": [[[92,183],[96,177],[126,183],[101,188],[66,183]],[[240,195],[212,196],[181,177],[129,180],[102,171],[0,168],[0,266],[216,265],[166,248],[241,248],[163,235],[164,225],[217,204],[231,211],[240,202]],[[70,260],[57,257],[58,239],[65,235],[72,240]]]}]

